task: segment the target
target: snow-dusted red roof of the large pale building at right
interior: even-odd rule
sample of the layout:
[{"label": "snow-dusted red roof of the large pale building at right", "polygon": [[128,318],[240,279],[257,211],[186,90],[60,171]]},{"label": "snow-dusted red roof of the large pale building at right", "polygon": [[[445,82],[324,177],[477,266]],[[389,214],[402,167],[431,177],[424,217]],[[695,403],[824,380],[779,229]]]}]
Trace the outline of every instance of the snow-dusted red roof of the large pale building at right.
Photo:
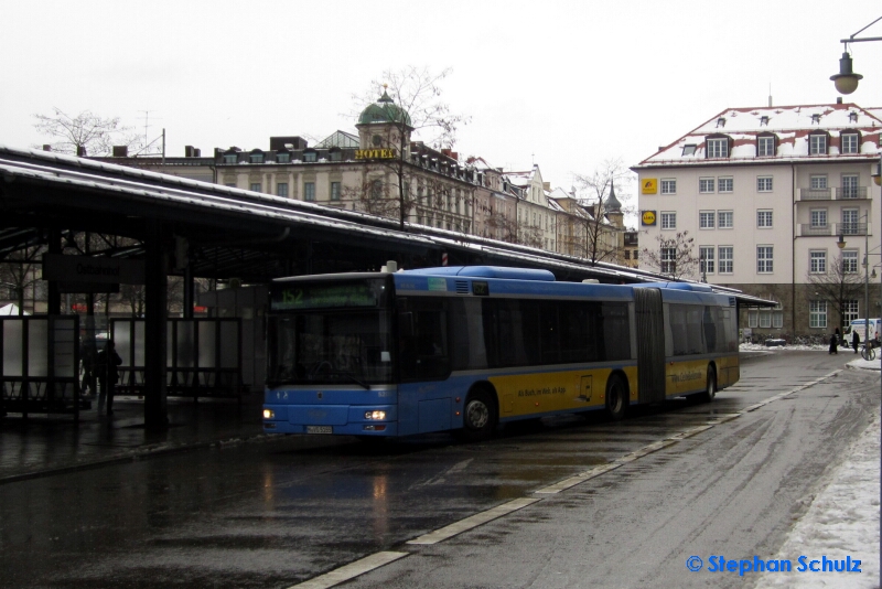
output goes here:
[{"label": "snow-dusted red roof of the large pale building at right", "polygon": [[[861,135],[859,153],[841,157],[873,159],[879,153],[882,108],[867,109],[854,104],[730,108],[711,117],[674,143],[659,149],[635,168],[754,159],[756,138],[761,133],[774,133],[777,137],[777,151],[774,157],[763,157],[757,161],[779,162],[807,158],[808,136],[818,130],[829,132],[835,139],[842,131],[858,131]],[[728,158],[706,157],[706,140],[710,136],[731,138]],[[833,140],[831,143],[828,157],[840,157],[838,141]],[[689,146],[693,146],[693,149],[686,149]],[[811,156],[813,160],[817,158],[818,156]]]}]

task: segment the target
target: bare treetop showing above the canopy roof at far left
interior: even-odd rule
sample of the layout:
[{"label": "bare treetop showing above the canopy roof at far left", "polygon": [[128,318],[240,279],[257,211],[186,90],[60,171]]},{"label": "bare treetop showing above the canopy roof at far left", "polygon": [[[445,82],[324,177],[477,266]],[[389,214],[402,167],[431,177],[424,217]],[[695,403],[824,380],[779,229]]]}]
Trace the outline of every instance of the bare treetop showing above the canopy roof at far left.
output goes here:
[{"label": "bare treetop showing above the canopy roof at far left", "polygon": [[138,138],[127,135],[129,127],[119,124],[119,117],[103,118],[89,110],[71,117],[60,108],[52,116],[34,115],[34,128],[52,137],[53,151],[75,156],[109,156],[115,144],[132,146]]}]

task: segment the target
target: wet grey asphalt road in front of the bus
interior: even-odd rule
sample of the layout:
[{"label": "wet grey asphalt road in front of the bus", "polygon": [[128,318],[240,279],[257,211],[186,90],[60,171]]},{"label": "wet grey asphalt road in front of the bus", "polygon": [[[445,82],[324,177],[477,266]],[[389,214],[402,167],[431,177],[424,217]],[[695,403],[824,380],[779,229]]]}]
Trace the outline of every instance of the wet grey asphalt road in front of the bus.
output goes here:
[{"label": "wet grey asphalt road in front of the bus", "polygon": [[[346,587],[743,587],[684,561],[774,554],[879,406],[879,373],[843,370],[561,493],[535,492],[848,360],[776,352],[745,360],[711,405],[545,420],[486,443],[289,437],[6,484],[0,586],[287,588],[397,550],[410,556]],[[405,544],[520,497],[540,501],[440,544]]]}]

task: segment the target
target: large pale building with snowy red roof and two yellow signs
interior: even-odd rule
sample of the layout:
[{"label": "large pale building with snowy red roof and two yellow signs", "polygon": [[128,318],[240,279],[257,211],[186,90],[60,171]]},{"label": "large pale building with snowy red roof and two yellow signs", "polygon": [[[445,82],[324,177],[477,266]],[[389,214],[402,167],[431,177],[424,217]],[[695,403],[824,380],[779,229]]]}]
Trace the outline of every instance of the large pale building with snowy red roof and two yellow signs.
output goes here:
[{"label": "large pale building with snowy red roof and two yellow signs", "polygon": [[778,301],[741,318],[754,339],[878,317],[880,131],[853,104],[724,110],[633,168],[642,249],[685,233],[692,278]]}]

